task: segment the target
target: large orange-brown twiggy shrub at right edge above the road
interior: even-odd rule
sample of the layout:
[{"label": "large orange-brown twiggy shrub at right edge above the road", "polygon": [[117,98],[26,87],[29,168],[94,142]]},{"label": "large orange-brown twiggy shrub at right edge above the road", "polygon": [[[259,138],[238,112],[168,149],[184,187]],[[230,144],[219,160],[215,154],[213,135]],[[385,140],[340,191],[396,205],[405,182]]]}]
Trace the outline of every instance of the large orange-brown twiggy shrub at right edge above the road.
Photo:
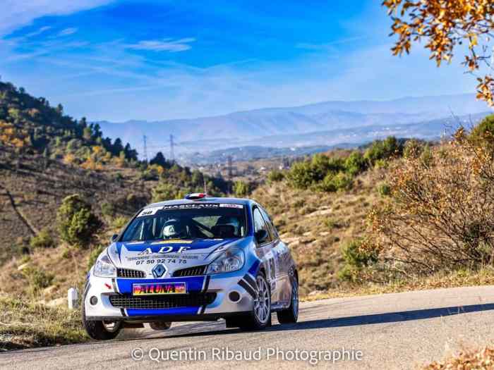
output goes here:
[{"label": "large orange-brown twiggy shrub at right edge above the road", "polygon": [[[424,154],[428,152],[427,156]],[[368,215],[392,268],[414,273],[494,261],[494,161],[463,129],[442,150],[406,158],[388,179],[392,197]]]}]

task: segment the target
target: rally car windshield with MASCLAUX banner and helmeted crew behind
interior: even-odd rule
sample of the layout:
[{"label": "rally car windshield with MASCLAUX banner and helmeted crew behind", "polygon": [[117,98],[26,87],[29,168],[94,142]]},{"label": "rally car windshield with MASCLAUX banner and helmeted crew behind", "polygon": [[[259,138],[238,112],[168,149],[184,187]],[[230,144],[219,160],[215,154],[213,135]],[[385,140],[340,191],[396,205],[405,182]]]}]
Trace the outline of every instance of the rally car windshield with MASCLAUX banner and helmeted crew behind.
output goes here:
[{"label": "rally car windshield with MASCLAUX banner and helmeted crew behind", "polygon": [[121,241],[226,239],[246,235],[242,204],[194,203],[143,209]]}]

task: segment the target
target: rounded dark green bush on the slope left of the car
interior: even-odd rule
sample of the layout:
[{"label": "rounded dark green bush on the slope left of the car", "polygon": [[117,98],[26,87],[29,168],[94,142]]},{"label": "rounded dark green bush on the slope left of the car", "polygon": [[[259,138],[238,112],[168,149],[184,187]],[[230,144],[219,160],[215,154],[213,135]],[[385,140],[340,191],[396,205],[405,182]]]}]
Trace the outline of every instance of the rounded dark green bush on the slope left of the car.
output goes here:
[{"label": "rounded dark green bush on the slope left of the car", "polygon": [[69,245],[86,246],[100,230],[102,222],[80,195],[66,197],[56,213],[61,240]]}]

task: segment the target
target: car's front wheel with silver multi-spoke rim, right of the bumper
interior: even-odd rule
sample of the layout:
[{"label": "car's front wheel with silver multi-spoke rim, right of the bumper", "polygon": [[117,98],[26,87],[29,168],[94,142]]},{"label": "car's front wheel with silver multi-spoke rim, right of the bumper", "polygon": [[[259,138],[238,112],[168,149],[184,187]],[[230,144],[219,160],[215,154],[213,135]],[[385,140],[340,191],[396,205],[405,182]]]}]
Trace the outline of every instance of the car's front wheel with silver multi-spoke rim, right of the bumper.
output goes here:
[{"label": "car's front wheel with silver multi-spoke rim, right of the bumper", "polygon": [[[267,284],[266,277],[262,272],[258,273],[255,282],[257,283],[256,298],[252,312],[246,316],[237,316],[230,319],[230,323],[234,323],[234,326],[238,326],[245,331],[262,330],[271,326],[270,285]],[[227,327],[229,327],[228,324],[227,321]]]}]

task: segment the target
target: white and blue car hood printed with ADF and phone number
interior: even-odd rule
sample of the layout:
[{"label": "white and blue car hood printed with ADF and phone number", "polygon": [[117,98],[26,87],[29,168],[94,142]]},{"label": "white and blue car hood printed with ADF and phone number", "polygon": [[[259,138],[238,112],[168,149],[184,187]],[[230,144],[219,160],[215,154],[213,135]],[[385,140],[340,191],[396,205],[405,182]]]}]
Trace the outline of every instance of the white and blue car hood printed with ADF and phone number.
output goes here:
[{"label": "white and blue car hood printed with ADF and phone number", "polygon": [[232,246],[243,247],[248,238],[161,240],[157,242],[115,242],[108,248],[109,257],[117,268],[144,271],[153,278],[152,269],[165,267],[160,278],[173,276],[174,271],[210,264]]}]

